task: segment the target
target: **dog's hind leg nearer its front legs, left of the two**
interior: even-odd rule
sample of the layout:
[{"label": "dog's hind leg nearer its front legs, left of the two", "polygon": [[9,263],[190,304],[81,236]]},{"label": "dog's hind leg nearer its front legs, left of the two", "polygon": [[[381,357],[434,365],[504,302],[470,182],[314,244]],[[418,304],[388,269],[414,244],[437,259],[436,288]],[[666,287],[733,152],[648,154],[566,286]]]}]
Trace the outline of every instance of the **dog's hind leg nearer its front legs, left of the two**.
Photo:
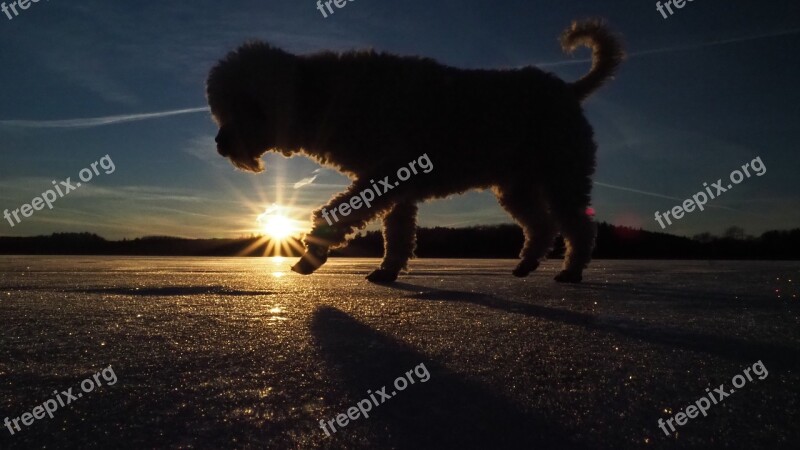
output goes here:
[{"label": "dog's hind leg nearer its front legs, left of the two", "polygon": [[516,277],[528,276],[539,267],[553,246],[556,228],[547,210],[547,203],[537,187],[525,184],[495,188],[497,200],[522,227],[525,244],[521,261],[512,272]]}]

